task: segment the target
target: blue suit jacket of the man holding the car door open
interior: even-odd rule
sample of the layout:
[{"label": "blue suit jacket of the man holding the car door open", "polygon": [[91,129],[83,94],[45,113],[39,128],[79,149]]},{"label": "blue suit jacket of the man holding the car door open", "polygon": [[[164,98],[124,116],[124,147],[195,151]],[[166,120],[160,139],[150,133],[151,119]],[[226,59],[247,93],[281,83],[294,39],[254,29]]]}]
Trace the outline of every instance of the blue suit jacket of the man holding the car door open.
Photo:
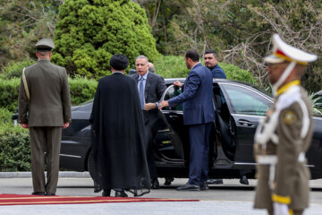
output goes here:
[{"label": "blue suit jacket of the man holding the car door open", "polygon": [[168,100],[171,107],[183,103],[184,125],[206,124],[215,120],[212,85],[209,69],[196,64],[184,82],[182,94]]}]

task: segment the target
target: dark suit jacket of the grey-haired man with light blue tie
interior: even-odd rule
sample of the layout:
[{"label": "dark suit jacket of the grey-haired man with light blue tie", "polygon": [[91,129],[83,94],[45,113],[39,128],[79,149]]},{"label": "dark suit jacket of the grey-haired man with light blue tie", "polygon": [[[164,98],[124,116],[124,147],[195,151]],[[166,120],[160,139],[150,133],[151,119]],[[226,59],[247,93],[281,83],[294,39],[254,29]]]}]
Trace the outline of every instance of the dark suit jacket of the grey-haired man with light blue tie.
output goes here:
[{"label": "dark suit jacket of the grey-haired man with light blue tie", "polygon": [[[139,82],[139,74],[135,73],[131,75],[136,82]],[[144,99],[146,103],[158,102],[164,91],[166,90],[165,79],[157,73],[148,73],[146,85],[144,89]],[[156,108],[157,110],[157,108]]]}]

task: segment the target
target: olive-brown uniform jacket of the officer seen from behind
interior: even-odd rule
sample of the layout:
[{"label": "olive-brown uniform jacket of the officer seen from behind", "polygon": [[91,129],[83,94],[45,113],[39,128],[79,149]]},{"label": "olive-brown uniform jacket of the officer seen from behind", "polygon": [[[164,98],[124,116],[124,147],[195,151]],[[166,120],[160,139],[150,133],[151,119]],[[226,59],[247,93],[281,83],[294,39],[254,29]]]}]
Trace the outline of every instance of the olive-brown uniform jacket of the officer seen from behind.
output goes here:
[{"label": "olive-brown uniform jacket of the officer seen from behind", "polygon": [[[19,123],[32,126],[62,126],[71,122],[71,98],[64,67],[38,60],[25,69],[30,101],[22,78],[18,99]],[[29,116],[27,117],[27,112]]]}]

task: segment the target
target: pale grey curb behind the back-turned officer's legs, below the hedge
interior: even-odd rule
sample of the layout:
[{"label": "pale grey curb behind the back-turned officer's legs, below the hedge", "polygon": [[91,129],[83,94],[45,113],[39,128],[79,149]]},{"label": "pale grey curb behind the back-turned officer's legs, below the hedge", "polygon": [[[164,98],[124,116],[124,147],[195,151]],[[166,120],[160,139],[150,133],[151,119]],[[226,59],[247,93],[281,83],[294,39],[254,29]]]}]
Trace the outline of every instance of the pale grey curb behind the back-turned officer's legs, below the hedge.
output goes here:
[{"label": "pale grey curb behind the back-turned officer's legs, below the hedge", "polygon": [[[45,172],[46,174],[46,172]],[[24,178],[31,177],[31,172],[0,172],[0,178]],[[90,177],[89,172],[59,172],[59,177]]]}]

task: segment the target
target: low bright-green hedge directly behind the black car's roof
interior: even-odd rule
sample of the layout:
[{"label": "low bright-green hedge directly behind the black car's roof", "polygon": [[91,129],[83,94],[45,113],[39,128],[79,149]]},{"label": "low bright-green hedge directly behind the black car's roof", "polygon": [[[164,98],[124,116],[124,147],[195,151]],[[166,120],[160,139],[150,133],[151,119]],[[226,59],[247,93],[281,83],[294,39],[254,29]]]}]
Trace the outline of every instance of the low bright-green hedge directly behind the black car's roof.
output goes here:
[{"label": "low bright-green hedge directly behind the black car's roof", "polygon": [[[190,71],[184,62],[183,56],[160,56],[153,64],[155,64],[156,73],[164,78],[186,77]],[[233,64],[219,63],[219,65],[225,71],[228,79],[257,83],[251,73],[246,70],[242,70]]]}]

